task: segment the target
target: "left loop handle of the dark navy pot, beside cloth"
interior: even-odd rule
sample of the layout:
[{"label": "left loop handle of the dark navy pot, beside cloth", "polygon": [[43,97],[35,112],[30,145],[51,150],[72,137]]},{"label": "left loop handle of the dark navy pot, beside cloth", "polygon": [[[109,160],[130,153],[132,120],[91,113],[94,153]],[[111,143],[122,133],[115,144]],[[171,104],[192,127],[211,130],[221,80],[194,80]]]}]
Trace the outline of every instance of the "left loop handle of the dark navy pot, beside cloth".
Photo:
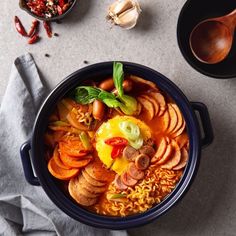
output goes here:
[{"label": "left loop handle of the dark navy pot, beside cloth", "polygon": [[20,148],[20,156],[21,156],[21,162],[23,165],[23,170],[25,174],[25,178],[28,183],[31,185],[39,186],[39,179],[34,175],[32,164],[30,161],[30,151],[31,145],[30,142],[27,141],[21,145]]}]

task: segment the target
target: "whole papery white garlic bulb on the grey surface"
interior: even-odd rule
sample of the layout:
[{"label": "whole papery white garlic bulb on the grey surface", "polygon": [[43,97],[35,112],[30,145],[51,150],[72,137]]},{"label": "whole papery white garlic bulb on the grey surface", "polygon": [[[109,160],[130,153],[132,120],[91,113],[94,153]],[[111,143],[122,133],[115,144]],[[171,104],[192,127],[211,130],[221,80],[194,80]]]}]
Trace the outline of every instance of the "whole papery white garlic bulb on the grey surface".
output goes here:
[{"label": "whole papery white garlic bulb on the grey surface", "polygon": [[113,23],[125,29],[133,28],[139,15],[141,8],[136,0],[116,0],[108,10],[108,18]]}]

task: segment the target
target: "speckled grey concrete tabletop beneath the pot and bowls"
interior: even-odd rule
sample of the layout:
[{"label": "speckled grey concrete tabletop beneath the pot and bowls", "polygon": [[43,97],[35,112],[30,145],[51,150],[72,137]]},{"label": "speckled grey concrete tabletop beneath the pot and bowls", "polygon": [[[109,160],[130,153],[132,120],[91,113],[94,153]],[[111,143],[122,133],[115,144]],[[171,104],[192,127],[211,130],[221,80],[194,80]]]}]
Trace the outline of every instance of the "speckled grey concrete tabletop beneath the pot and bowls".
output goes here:
[{"label": "speckled grey concrete tabletop beneath the pot and bowls", "polygon": [[[215,80],[199,74],[183,59],[176,41],[176,22],[184,0],[140,0],[137,27],[110,28],[105,20],[111,1],[80,0],[63,24],[53,24],[59,37],[27,45],[13,25],[14,15],[29,27],[31,17],[17,1],[2,1],[0,11],[0,100],[13,60],[31,52],[45,82],[53,88],[64,77],[90,64],[126,60],[152,67],[169,77],[191,101],[204,102],[211,114],[214,143],[203,150],[190,191],[155,222],[130,230],[139,236],[236,235],[236,79]],[[44,56],[50,55],[49,58]]]}]

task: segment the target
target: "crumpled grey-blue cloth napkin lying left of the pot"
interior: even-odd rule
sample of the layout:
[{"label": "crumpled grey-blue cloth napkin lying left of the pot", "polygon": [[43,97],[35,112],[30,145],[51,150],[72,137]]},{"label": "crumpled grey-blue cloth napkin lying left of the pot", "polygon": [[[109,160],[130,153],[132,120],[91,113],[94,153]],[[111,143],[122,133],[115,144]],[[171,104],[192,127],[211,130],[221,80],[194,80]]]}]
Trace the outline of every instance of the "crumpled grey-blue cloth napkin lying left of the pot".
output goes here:
[{"label": "crumpled grey-blue cloth napkin lying left of the pot", "polygon": [[30,54],[17,58],[0,107],[0,235],[107,235],[58,209],[41,187],[24,178],[19,150],[31,135],[37,109],[47,93]]}]

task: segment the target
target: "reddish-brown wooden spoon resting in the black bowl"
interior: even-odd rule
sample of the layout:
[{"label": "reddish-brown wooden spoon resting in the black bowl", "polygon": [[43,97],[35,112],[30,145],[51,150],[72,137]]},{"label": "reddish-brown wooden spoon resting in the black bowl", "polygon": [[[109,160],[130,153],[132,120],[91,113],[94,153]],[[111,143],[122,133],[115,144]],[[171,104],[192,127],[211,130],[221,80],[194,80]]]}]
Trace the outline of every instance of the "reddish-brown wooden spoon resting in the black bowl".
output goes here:
[{"label": "reddish-brown wooden spoon resting in the black bowl", "polygon": [[201,62],[215,64],[225,59],[232,47],[236,9],[228,15],[200,22],[190,34],[190,47]]}]

